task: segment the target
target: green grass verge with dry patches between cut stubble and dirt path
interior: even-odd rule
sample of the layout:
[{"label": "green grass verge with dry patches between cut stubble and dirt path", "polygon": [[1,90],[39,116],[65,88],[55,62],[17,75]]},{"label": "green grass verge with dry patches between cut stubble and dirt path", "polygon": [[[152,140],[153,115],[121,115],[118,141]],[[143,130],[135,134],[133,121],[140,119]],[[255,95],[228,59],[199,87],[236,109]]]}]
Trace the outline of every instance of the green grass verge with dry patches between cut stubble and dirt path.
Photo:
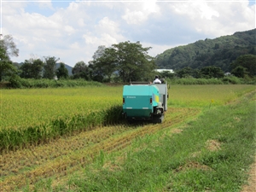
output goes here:
[{"label": "green grass verge with dry patches between cut stubble and dirt path", "polygon": [[[240,191],[255,155],[255,92],[210,108],[180,129],[139,138],[123,154],[101,152],[82,175],[57,189]],[[211,142],[218,143],[212,150]]]}]

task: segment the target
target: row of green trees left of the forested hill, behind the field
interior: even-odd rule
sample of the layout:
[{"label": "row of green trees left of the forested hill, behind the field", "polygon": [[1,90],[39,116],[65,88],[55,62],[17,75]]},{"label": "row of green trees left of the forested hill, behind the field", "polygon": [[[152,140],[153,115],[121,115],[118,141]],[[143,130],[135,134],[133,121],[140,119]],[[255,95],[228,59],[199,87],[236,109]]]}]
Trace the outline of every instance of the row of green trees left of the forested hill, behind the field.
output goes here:
[{"label": "row of green trees left of the forested hill, behind the field", "polygon": [[[10,61],[10,56],[19,55],[13,38],[5,36],[0,44],[0,81],[3,77],[9,79],[19,76],[23,79],[85,79],[98,82],[145,81],[154,77],[154,58],[148,55],[151,47],[143,48],[140,42],[130,41],[113,44],[106,48],[99,46],[92,61],[86,64],[79,61],[72,69],[73,76],[68,76],[65,63],[61,62],[56,68],[60,58],[44,56],[43,59],[30,58],[21,66]],[[11,46],[10,46],[11,45]]]}]

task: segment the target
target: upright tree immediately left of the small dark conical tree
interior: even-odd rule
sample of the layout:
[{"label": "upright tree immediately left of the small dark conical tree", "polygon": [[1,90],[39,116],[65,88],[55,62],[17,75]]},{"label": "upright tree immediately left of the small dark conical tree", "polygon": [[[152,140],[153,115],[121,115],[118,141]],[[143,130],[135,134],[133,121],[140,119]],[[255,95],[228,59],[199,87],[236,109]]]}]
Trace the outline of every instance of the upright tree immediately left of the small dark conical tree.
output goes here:
[{"label": "upright tree immediately left of the small dark conical tree", "polygon": [[44,57],[44,78],[45,79],[54,79],[55,70],[56,70],[56,62],[60,60],[60,58],[55,58],[55,56]]}]

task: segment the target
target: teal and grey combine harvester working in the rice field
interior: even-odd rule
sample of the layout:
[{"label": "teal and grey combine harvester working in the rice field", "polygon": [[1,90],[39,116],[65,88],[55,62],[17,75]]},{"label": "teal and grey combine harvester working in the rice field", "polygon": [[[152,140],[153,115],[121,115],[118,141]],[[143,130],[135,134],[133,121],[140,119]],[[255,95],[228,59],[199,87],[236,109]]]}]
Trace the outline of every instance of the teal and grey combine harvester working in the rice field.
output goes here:
[{"label": "teal and grey combine harvester working in the rice field", "polygon": [[161,123],[167,110],[167,83],[133,82],[123,89],[123,116],[128,121],[143,119]]}]

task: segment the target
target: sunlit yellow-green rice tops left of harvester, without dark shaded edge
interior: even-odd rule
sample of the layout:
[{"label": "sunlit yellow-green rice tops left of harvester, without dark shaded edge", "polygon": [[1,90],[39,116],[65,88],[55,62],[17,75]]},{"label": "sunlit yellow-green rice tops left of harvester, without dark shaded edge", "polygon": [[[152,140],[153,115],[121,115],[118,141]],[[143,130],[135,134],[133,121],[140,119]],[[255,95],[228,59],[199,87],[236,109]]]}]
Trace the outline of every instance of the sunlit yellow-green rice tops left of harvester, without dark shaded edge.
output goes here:
[{"label": "sunlit yellow-green rice tops left of harvester, without dark shaded edge", "polygon": [[116,90],[113,87],[2,90],[0,129],[40,125],[74,113],[109,108],[121,103],[122,91]]}]

